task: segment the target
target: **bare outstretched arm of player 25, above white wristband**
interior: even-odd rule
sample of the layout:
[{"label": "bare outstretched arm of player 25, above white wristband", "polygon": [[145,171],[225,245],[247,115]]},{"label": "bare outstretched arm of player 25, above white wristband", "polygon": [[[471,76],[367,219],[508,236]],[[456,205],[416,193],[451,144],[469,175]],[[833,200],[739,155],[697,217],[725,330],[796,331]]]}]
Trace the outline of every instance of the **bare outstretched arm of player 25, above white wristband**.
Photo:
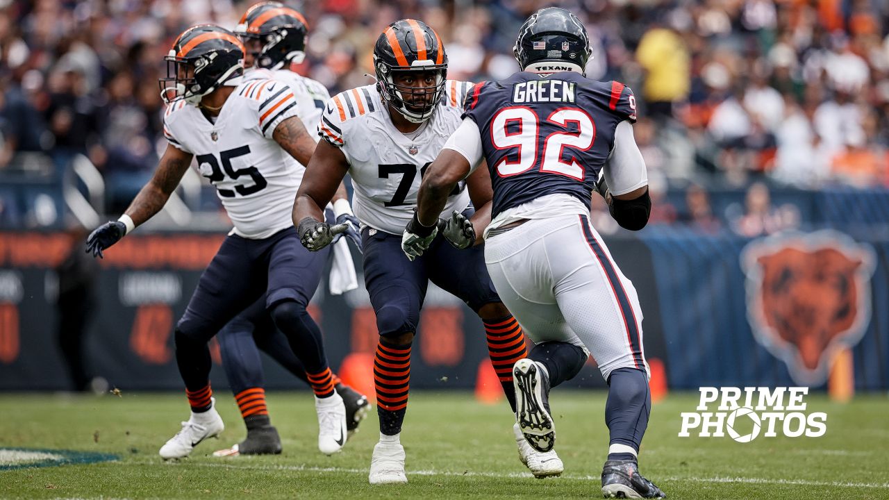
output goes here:
[{"label": "bare outstretched arm of player 25, above white wristband", "polygon": [[151,181],[142,187],[124,212],[130,216],[133,224],[139,226],[164,208],[173,190],[179,186],[182,175],[188,170],[188,165],[191,165],[190,154],[167,146]]}]

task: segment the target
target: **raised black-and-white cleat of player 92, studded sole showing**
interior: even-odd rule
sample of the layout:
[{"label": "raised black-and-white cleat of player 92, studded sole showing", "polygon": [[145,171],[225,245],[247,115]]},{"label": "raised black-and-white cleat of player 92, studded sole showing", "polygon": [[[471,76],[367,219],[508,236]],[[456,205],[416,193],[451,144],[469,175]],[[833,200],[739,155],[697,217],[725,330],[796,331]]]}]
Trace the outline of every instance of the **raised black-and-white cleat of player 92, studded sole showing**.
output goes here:
[{"label": "raised black-and-white cleat of player 92, studded sole showing", "polygon": [[549,376],[532,359],[516,361],[512,368],[516,389],[516,421],[525,440],[541,453],[556,445],[556,423],[549,415]]}]

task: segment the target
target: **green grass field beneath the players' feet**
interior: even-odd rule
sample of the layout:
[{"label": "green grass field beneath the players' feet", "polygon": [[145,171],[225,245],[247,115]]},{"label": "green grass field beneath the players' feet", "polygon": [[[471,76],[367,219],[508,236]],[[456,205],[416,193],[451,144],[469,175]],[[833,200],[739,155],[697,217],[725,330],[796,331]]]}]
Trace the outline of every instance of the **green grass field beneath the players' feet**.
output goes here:
[{"label": "green grass field beneath the players' feet", "polygon": [[[188,416],[180,394],[108,396],[0,395],[0,448],[52,448],[114,454],[119,460],[0,471],[3,498],[522,498],[599,497],[608,434],[604,392],[555,391],[558,479],[534,480],[518,461],[506,404],[477,404],[462,392],[412,393],[402,434],[410,483],[367,484],[377,440],[376,415],[344,451],[316,448],[308,392],[268,396],[284,440],[281,456],[216,458],[212,451],[244,435],[233,399],[217,394],[228,427],[178,463],[157,449]],[[655,405],[641,470],[669,498],[889,498],[889,399],[847,405],[810,396],[808,411],[828,414],[816,439],[678,438],[680,412],[697,394]]]}]

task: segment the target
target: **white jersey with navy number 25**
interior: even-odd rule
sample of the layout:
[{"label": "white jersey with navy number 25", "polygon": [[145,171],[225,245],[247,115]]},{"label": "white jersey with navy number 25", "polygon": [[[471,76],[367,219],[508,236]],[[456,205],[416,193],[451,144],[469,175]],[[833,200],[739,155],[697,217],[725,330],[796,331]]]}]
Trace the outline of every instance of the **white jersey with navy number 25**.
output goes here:
[{"label": "white jersey with navy number 25", "polygon": [[167,141],[195,155],[197,172],[216,188],[238,236],[268,238],[293,225],[293,200],[306,169],[272,134],[295,116],[290,86],[243,78],[215,122],[184,101],[173,102],[164,113]]}]

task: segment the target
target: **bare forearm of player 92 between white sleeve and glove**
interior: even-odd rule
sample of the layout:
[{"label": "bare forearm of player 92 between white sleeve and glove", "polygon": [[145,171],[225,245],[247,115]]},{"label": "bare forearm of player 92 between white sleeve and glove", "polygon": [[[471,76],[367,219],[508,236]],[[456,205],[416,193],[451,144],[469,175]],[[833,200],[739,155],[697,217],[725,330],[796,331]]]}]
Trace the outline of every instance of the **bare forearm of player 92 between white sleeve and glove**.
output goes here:
[{"label": "bare forearm of player 92 between white sleeve and glove", "polygon": [[442,149],[423,175],[417,194],[417,219],[424,226],[438,222],[445,209],[448,194],[457,182],[469,175],[469,162],[453,149]]}]

